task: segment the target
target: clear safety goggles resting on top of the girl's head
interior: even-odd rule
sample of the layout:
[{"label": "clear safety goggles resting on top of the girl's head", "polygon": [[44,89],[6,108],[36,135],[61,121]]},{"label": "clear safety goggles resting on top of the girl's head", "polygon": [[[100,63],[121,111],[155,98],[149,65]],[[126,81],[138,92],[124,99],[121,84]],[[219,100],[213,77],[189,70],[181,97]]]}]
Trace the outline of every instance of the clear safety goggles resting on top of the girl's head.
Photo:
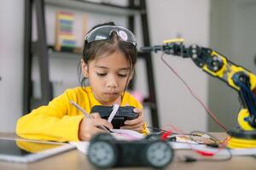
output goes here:
[{"label": "clear safety goggles resting on top of the girl's head", "polygon": [[113,31],[116,32],[121,41],[130,42],[134,46],[137,45],[134,34],[122,26],[99,26],[86,35],[85,41],[90,43],[98,40],[109,40]]}]

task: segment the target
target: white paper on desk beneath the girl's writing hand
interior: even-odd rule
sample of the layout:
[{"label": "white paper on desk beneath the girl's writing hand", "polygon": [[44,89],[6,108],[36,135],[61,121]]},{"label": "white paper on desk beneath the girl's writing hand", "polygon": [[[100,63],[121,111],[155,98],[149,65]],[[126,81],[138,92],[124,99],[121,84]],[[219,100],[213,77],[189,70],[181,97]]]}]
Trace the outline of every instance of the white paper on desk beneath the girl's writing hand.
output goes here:
[{"label": "white paper on desk beneath the girl's writing hand", "polygon": [[[128,129],[111,129],[114,133],[110,133],[113,135],[113,137],[117,140],[137,140],[137,139],[143,139],[144,135],[143,133],[137,133],[133,130]],[[73,144],[77,147],[78,150],[83,152],[84,154],[87,154],[87,149],[90,144],[88,141],[80,141],[80,142],[69,142],[70,144]]]}]

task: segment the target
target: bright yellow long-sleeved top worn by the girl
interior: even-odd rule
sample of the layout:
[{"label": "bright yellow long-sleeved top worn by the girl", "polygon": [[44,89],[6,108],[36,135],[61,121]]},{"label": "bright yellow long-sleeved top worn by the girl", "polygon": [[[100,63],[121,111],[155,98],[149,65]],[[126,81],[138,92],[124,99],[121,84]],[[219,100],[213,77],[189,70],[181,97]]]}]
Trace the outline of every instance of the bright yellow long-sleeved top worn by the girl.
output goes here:
[{"label": "bright yellow long-sleeved top worn by the girl", "polygon": [[[59,142],[79,140],[79,123],[84,115],[70,104],[70,100],[79,104],[85,111],[95,105],[102,105],[92,94],[91,88],[67,89],[64,94],[20,117],[16,133],[26,139],[54,140]],[[121,106],[131,105],[142,109],[143,106],[131,94],[125,92]],[[144,123],[144,134],[148,133]]]}]

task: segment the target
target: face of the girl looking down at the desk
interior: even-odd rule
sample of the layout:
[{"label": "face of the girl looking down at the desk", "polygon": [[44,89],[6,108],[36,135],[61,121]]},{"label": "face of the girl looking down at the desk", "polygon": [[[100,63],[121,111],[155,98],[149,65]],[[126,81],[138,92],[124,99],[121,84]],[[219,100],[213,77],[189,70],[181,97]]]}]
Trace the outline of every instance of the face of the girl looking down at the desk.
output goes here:
[{"label": "face of the girl looking down at the desk", "polygon": [[119,51],[91,60],[88,65],[82,61],[83,75],[89,79],[92,93],[102,105],[120,105],[127,79],[130,82],[133,74],[129,76],[130,69],[125,55]]}]

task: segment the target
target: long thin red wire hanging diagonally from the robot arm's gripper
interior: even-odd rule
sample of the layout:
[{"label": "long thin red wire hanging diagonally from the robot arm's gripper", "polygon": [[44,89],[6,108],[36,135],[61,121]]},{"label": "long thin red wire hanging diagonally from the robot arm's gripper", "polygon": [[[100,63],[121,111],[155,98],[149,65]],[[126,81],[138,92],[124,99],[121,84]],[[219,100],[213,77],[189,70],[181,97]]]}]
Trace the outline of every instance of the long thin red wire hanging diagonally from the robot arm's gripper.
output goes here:
[{"label": "long thin red wire hanging diagonally from the robot arm's gripper", "polygon": [[192,96],[203,106],[203,108],[207,111],[208,115],[212,117],[212,119],[218,123],[218,125],[220,127],[222,127],[224,129],[225,132],[227,132],[227,128],[224,127],[224,125],[218,121],[218,118],[215,116],[215,114],[207,107],[207,105],[205,105],[201,99],[193,92],[193,90],[189,87],[189,85],[187,84],[187,82],[185,82],[183,80],[182,77],[180,77],[178,74],[177,74],[177,71],[175,71],[171,65],[169,65],[166,60],[164,59],[164,54],[161,55],[161,59],[162,61],[166,64],[166,66],[177,76],[177,78],[183,82],[183,84],[185,85],[186,88],[188,88],[189,90],[189,93],[192,94]]}]

